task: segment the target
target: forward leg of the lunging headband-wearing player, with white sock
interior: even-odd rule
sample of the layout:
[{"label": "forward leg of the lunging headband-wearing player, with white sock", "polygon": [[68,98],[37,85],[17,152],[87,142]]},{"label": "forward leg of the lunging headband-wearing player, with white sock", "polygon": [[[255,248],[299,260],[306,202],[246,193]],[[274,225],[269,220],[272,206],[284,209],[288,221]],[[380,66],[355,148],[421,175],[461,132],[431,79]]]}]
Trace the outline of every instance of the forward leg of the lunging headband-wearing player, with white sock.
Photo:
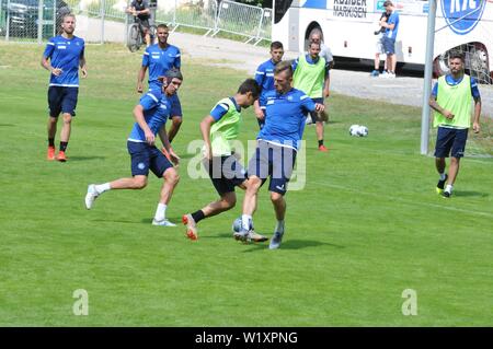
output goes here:
[{"label": "forward leg of the lunging headband-wearing player, with white sock", "polygon": [[167,208],[173,196],[174,188],[180,182],[180,176],[173,164],[164,156],[156,147],[150,147],[151,161],[149,168],[157,177],[162,177],[163,184],[161,187],[160,199],[158,208],[156,209],[153,225],[176,226],[167,219]]}]

